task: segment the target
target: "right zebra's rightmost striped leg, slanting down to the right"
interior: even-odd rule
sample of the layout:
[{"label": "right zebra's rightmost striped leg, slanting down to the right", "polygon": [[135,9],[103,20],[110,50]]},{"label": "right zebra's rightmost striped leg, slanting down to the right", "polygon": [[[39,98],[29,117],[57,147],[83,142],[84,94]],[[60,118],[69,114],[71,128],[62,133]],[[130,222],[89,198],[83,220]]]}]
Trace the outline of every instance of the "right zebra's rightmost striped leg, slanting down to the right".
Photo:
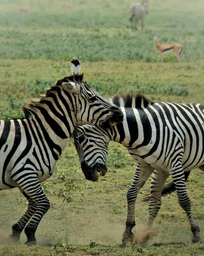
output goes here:
[{"label": "right zebra's rightmost striped leg, slanting down to the right", "polygon": [[191,212],[191,201],[189,199],[189,196],[186,191],[186,184],[185,184],[185,177],[184,172],[182,169],[182,166],[180,167],[180,170],[178,171],[172,171],[171,176],[173,178],[173,182],[175,184],[175,188],[177,190],[178,194],[178,202],[182,209],[186,212],[187,217],[189,219],[189,223],[191,226],[191,232],[193,233],[193,243],[197,243],[201,241],[200,238],[200,228],[195,222],[195,219],[193,218],[192,212]]}]

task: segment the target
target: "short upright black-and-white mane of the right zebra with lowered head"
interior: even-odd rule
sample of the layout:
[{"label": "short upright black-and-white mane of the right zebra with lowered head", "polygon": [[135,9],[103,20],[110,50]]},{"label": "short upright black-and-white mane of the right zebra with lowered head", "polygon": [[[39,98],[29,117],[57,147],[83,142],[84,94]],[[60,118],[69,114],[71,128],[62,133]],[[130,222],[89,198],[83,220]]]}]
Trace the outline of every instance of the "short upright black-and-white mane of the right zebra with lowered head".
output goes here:
[{"label": "short upright black-and-white mane of the right zebra with lowered head", "polygon": [[123,108],[146,108],[154,104],[153,101],[146,98],[143,94],[117,94],[111,97],[110,101],[116,106]]}]

